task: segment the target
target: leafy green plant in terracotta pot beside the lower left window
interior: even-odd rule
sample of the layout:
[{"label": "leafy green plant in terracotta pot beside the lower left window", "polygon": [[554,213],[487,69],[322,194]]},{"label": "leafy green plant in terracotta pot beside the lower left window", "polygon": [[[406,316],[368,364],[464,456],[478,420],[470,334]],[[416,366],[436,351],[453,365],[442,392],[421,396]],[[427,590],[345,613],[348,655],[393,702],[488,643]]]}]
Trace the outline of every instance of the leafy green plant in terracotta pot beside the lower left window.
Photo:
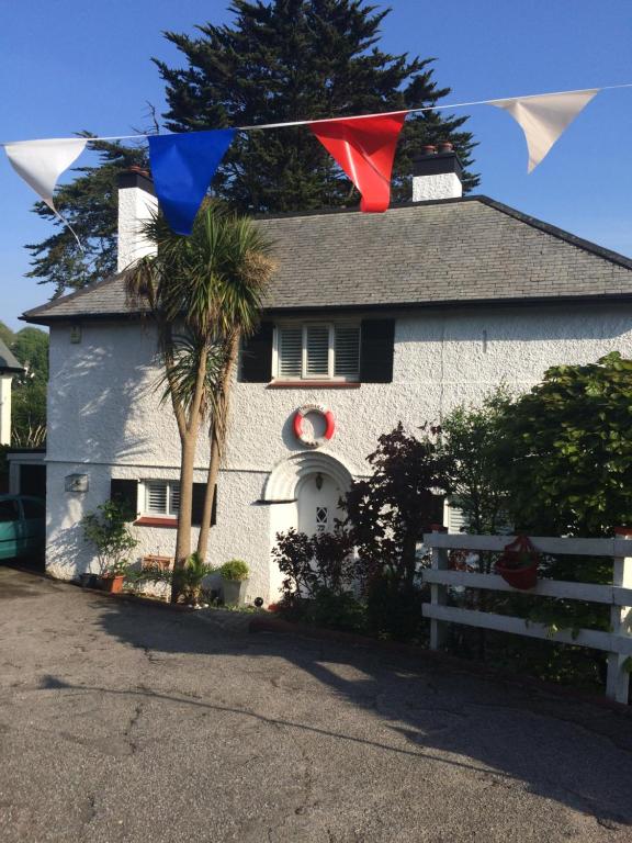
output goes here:
[{"label": "leafy green plant in terracotta pot beside the lower left window", "polygon": [[95,513],[86,515],[81,521],[86,541],[97,548],[101,584],[111,594],[123,591],[127,554],[138,544],[129,532],[128,521],[133,517],[116,501],[105,501]]}]

